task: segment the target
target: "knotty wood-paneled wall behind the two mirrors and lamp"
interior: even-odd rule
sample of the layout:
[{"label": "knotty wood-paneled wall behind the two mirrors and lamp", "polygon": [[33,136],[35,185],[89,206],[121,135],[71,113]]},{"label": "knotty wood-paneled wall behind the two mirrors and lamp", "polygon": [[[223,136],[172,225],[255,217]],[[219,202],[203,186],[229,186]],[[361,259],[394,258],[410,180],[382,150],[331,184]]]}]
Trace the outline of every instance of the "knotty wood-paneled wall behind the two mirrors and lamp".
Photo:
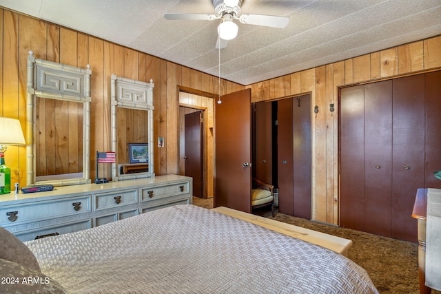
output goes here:
[{"label": "knotty wood-paneled wall behind the two mirrors and lamp", "polygon": [[[165,138],[165,147],[154,149],[154,172],[178,174],[178,86],[218,93],[218,77],[138,52],[88,34],[0,8],[0,115],[19,118],[26,134],[26,61],[32,50],[39,59],[92,70],[90,175],[96,174],[95,151],[111,149],[110,76],[154,82],[154,142]],[[243,90],[243,85],[222,80],[220,93]],[[130,125],[126,127],[131,127]],[[131,127],[136,129],[135,126]],[[6,164],[11,181],[26,184],[25,147],[9,147]],[[111,178],[110,165],[100,176]]]}]

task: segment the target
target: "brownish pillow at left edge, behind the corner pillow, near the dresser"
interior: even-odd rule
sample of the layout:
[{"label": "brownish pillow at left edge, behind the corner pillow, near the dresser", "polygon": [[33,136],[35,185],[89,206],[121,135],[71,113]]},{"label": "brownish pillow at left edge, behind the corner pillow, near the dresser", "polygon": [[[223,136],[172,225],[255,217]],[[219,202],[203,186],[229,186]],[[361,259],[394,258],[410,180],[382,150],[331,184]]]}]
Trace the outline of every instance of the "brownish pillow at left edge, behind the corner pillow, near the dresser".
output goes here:
[{"label": "brownish pillow at left edge, behind the corner pillow, near the dresser", "polygon": [[41,271],[37,258],[28,246],[2,227],[0,227],[0,258],[21,264],[32,271]]}]

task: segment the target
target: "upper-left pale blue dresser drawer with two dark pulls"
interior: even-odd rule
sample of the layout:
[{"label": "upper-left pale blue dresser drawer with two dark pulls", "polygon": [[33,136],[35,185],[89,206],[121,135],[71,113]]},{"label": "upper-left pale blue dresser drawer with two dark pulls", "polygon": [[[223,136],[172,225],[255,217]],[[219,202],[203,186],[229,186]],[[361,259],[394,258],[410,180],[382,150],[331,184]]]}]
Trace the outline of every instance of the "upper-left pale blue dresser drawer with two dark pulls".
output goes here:
[{"label": "upper-left pale blue dresser drawer with two dark pulls", "polygon": [[21,204],[20,206],[2,207],[0,223],[3,226],[21,222],[35,222],[48,218],[72,216],[77,213],[91,212],[91,196],[50,200]]}]

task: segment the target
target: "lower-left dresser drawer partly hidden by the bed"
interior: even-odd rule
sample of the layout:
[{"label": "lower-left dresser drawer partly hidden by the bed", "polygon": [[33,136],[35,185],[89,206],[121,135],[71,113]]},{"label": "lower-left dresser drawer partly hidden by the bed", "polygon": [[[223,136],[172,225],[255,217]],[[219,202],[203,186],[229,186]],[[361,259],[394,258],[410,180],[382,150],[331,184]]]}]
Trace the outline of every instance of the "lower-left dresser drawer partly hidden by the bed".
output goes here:
[{"label": "lower-left dresser drawer partly hidden by the bed", "polygon": [[72,233],[92,227],[92,219],[79,220],[77,222],[69,222],[66,224],[59,224],[57,226],[45,227],[32,231],[22,231],[14,233],[21,241],[30,241],[36,238],[45,238],[50,235],[61,235],[65,233]]}]

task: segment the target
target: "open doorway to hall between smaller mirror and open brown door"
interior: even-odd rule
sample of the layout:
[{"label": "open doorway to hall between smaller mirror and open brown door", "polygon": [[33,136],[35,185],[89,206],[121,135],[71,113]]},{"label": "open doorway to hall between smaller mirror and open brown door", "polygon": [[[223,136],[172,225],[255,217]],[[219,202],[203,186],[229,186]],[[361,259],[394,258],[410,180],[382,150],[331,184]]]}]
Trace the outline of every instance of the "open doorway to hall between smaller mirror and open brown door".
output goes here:
[{"label": "open doorway to hall between smaller mirror and open brown door", "polygon": [[[201,114],[201,141],[200,143],[192,142],[201,147],[201,172],[192,167],[191,173],[201,174],[201,180],[194,177],[194,196],[198,198],[214,197],[214,102],[213,98],[192,94],[189,92],[179,92],[179,154],[178,169],[179,174],[185,176],[186,159],[185,156],[185,116],[187,114]],[[198,116],[198,114],[195,114]],[[194,139],[192,139],[194,140]],[[193,149],[193,147],[191,147]],[[188,149],[188,147],[187,147]],[[196,150],[196,152],[198,152]],[[192,155],[194,156],[194,155]],[[189,160],[188,160],[189,161]],[[198,182],[196,182],[198,181]],[[199,183],[200,182],[200,183]],[[201,188],[200,188],[201,187]],[[201,191],[201,193],[199,193]]]}]

